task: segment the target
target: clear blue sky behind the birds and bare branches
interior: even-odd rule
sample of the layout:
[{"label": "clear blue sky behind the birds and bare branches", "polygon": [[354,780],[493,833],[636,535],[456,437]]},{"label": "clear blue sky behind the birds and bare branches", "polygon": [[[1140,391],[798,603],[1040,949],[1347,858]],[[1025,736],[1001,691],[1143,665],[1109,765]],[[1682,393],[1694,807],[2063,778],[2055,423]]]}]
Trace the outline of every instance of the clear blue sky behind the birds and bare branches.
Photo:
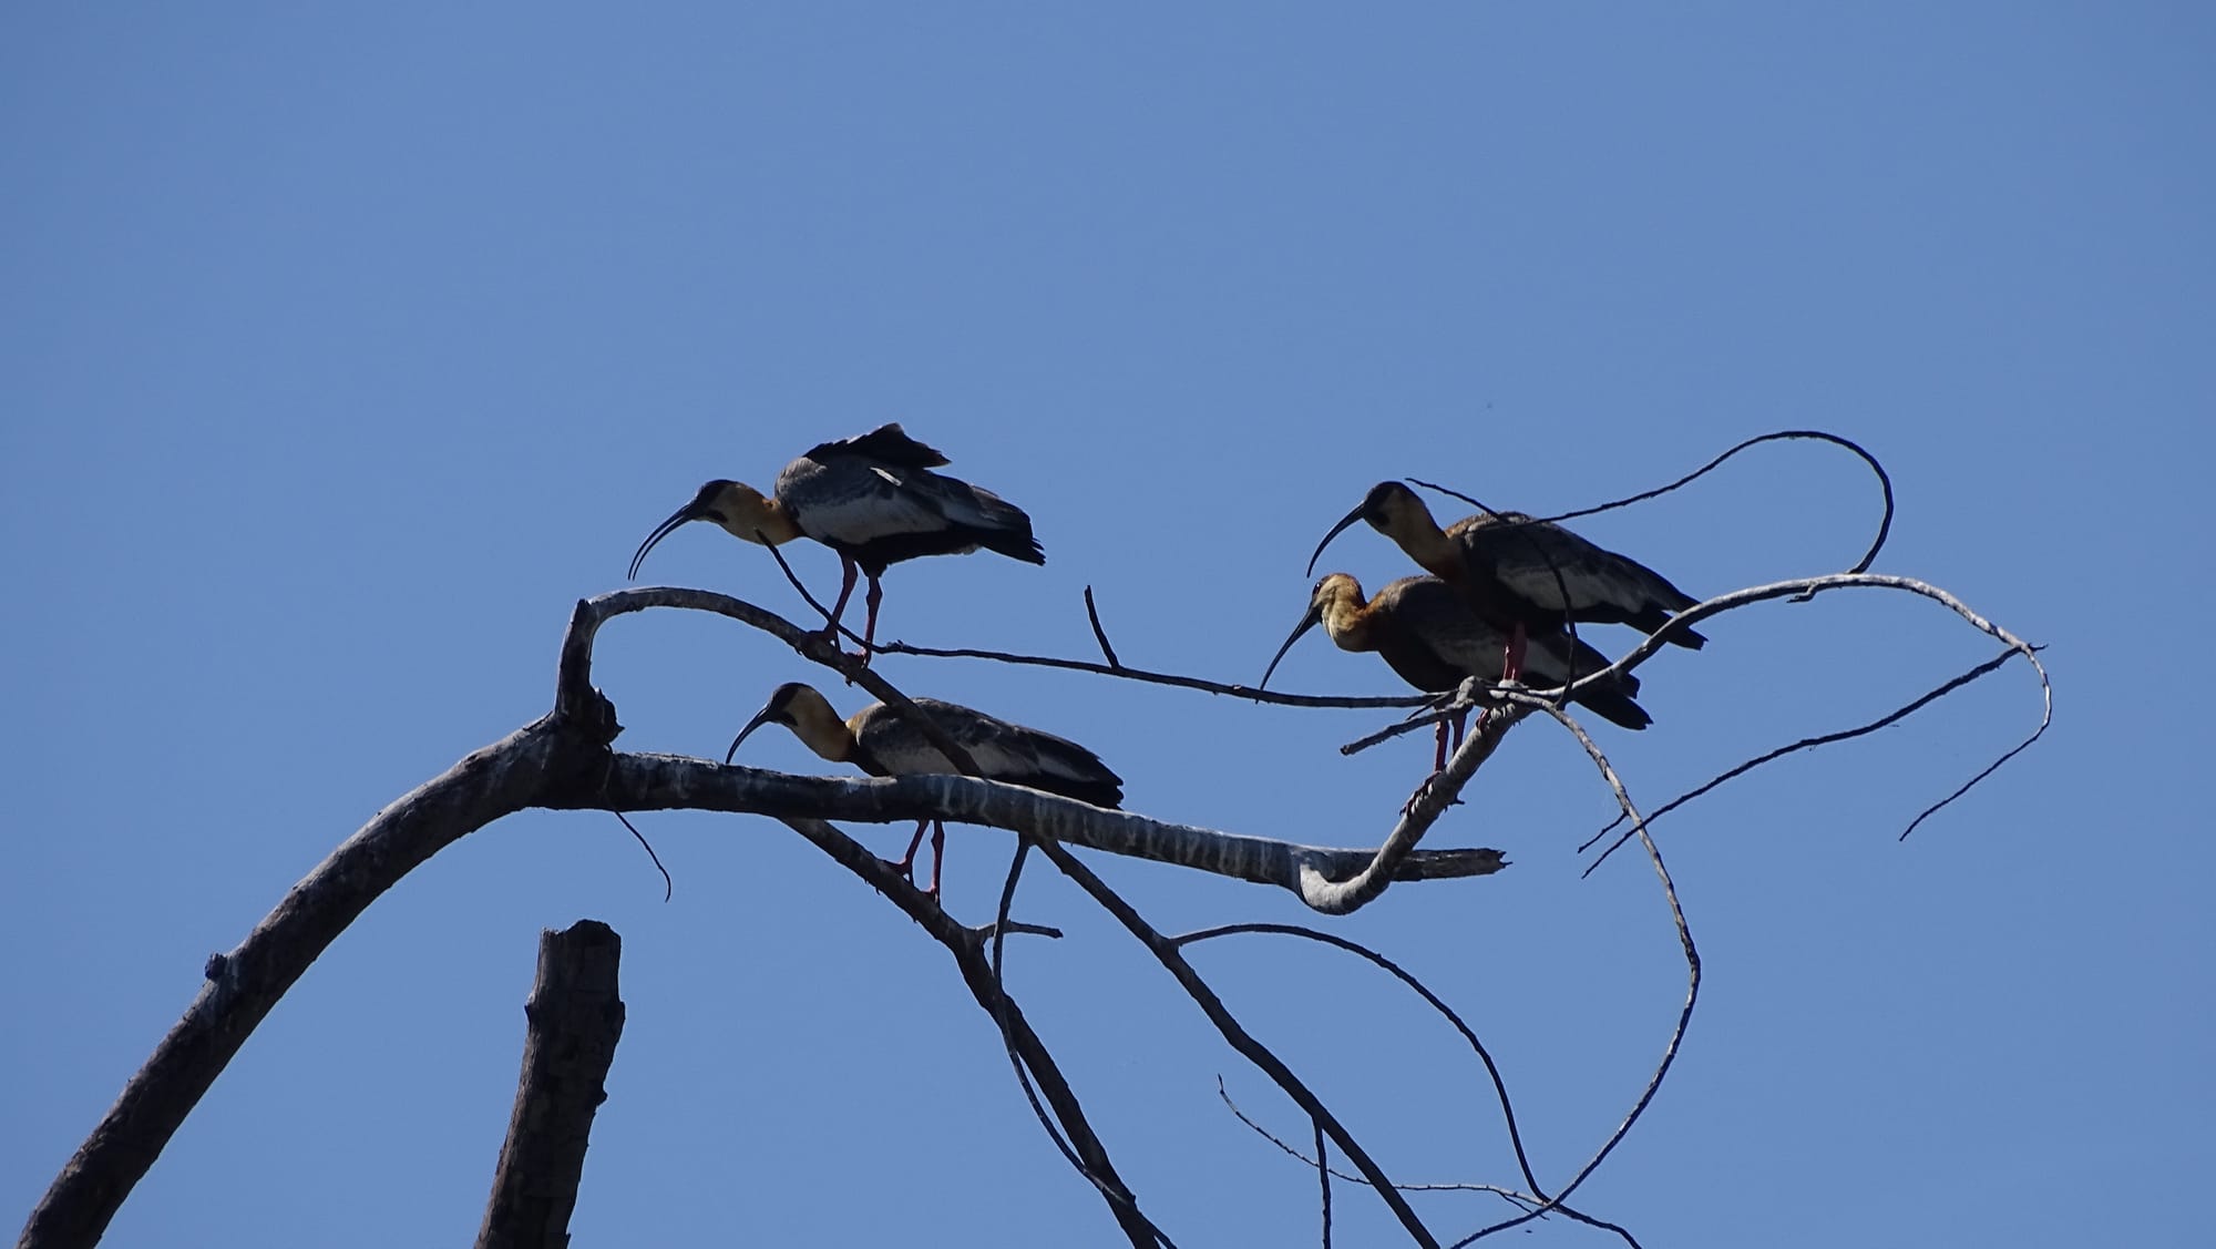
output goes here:
[{"label": "clear blue sky behind the birds and bare branches", "polygon": [[[1310,547],[1387,476],[1556,512],[1828,427],[1901,494],[1879,571],[2050,647],[1658,824],[1709,981],[1578,1202],[1644,1245],[2205,1238],[2216,31],[2192,4],[9,7],[0,1211],[20,1220],[228,950],[339,839],[543,713],[578,596],[711,476],[904,421],[1030,509],[1044,569],[893,569],[882,633],[1252,680]],[[1582,523],[1695,593],[1837,571],[1875,492],[1808,445]],[[822,549],[802,576],[835,582]],[[1332,567],[1401,576],[1367,531]],[[798,611],[707,527],[647,580]],[[1990,653],[1892,596],[1768,605],[1598,726],[1655,804]],[[1620,649],[1627,633],[1593,640]],[[2121,662],[2130,658],[2132,662]],[[1374,844],[1429,762],[1372,713],[884,660],[1073,735],[1148,815]],[[2183,675],[2181,675],[2183,673]],[[720,757],[809,671],[638,616],[638,751]],[[1321,638],[1276,684],[1392,693]],[[851,691],[833,702],[853,711]],[[787,735],[762,766],[822,771]],[[1518,729],[1432,844],[1514,868],[1321,921],[1469,1012],[1558,1183],[1684,988],[1576,744]],[[310,970],[111,1245],[459,1242],[541,928],[609,921],[629,1025],[578,1245],[1108,1245],[944,952],[778,824],[607,815],[439,855]],[[897,853],[902,828],[860,828]],[[1010,839],[957,828],[988,917]],[[1095,857],[1101,861],[1101,857]],[[1163,928],[1283,892],[1101,861]],[[1010,983],[1181,1245],[1299,1245],[1301,1136],[1152,961],[1026,877]],[[1405,1180],[1509,1183],[1483,1072],[1350,959],[1201,950]],[[2200,1196],[2196,1196],[2200,1194]],[[1338,1191],[1341,1242],[1385,1242]],[[1434,1196],[1443,1236],[1502,1207]],[[1604,1236],[1569,1222],[1531,1242]]]}]

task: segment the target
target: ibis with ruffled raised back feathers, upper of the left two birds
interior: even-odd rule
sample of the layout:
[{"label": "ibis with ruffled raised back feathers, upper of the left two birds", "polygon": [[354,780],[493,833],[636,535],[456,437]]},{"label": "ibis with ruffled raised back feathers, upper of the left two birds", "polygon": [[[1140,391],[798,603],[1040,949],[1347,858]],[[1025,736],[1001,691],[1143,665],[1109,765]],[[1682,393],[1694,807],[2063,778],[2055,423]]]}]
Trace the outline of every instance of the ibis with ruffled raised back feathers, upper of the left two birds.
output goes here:
[{"label": "ibis with ruffled raised back feathers, upper of the left two birds", "polygon": [[862,662],[878,640],[884,569],[920,556],[966,556],[977,547],[1026,565],[1046,551],[1030,534],[1022,507],[966,481],[942,476],[946,456],[911,438],[900,423],[820,443],[784,465],[769,498],[751,485],[716,478],[647,534],[632,556],[632,578],[647,551],[689,520],[714,520],[727,534],[776,547],[813,538],[840,558],[838,602],[824,633],[838,633],[860,569],[869,578],[869,620],[862,624]]}]

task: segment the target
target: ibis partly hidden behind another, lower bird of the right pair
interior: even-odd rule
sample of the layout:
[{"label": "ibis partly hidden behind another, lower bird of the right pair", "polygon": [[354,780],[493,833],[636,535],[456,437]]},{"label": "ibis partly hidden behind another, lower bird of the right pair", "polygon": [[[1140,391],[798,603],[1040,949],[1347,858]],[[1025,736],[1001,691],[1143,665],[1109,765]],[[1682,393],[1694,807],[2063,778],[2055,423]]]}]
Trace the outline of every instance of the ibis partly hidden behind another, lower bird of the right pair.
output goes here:
[{"label": "ibis partly hidden behind another, lower bird of the right pair", "polygon": [[[1325,574],[1307,596],[1307,613],[1294,624],[1292,636],[1276,649],[1270,669],[1261,673],[1261,687],[1270,684],[1285,651],[1303,633],[1323,624],[1323,631],[1341,651],[1376,651],[1401,680],[1423,693],[1443,693],[1463,684],[1463,678],[1505,680],[1500,675],[1507,658],[1507,636],[1487,624],[1463,605],[1460,596],[1436,576],[1405,576],[1378,589],[1376,598],[1363,600],[1363,585],[1352,574]],[[1567,631],[1551,629],[1531,636],[1527,656],[1529,673],[1549,687],[1562,687],[1578,678],[1609,667],[1609,658],[1573,640]],[[1591,709],[1609,724],[1622,729],[1646,729],[1653,718],[1633,702],[1640,678],[1622,678],[1580,691],[1573,702]],[[1463,718],[1454,720],[1454,744],[1463,742]],[[1438,751],[1432,771],[1447,766],[1447,722],[1438,724]]]}]

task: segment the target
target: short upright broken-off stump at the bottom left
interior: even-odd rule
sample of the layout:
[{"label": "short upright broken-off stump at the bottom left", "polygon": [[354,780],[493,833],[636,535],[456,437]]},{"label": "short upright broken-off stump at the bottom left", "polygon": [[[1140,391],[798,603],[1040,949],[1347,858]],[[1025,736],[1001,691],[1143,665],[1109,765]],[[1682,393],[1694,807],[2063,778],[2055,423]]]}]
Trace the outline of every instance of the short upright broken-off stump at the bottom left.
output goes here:
[{"label": "short upright broken-off stump at the bottom left", "polygon": [[623,939],[598,919],[538,935],[538,979],[523,1003],[523,1076],[476,1249],[570,1245],[592,1116],[607,1101],[607,1067],[623,1036],[620,957]]}]

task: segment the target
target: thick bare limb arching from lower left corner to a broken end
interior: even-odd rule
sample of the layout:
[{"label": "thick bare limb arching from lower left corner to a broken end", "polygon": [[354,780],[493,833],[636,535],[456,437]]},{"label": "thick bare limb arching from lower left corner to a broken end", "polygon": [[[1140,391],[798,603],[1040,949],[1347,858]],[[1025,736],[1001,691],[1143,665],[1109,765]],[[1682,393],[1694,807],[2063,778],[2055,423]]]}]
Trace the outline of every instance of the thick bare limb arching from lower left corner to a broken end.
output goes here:
[{"label": "thick bare limb arching from lower left corner to a broken end", "polygon": [[[22,1229],[20,1249],[98,1242],[115,1209],[144,1178],[184,1116],[208,1092],[215,1076],[222,1074],[277,999],[299,981],[330,941],[425,859],[468,833],[532,806],[652,811],[689,804],[709,811],[756,811],[789,824],[820,822],[824,815],[853,815],[864,819],[942,817],[1022,828],[1026,819],[1035,819],[1033,830],[1046,837],[1073,833],[1084,844],[1099,848],[1124,846],[1137,857],[1192,861],[1203,870],[1279,884],[1303,892],[1303,897],[1330,886],[1338,875],[1378,870],[1376,855],[1365,850],[1325,850],[1188,830],[1128,813],[1097,811],[1022,786],[968,777],[811,780],[725,768],[705,760],[614,753],[607,746],[623,726],[616,722],[614,704],[592,689],[592,642],[598,627],[612,616],[647,607],[694,607],[742,620],[784,640],[802,656],[851,675],[878,698],[904,702],[897,689],[853,662],[827,636],[807,633],[729,596],[689,589],[632,589],[578,602],[570,631],[563,636],[554,711],[468,755],[448,773],[381,811],[293,886],[235,950],[208,959],[199,997],[55,1176]],[[951,742],[940,744],[940,749],[948,757],[962,753]],[[1498,850],[1443,850],[1409,855],[1398,861],[1394,875],[1401,879],[1447,879],[1487,875],[1500,866]],[[991,977],[982,957],[977,968]],[[968,974],[971,970],[964,966],[964,977]],[[1044,1063],[1044,1047],[1039,1056]],[[1030,1065],[1028,1056],[1026,1065]],[[1030,1070],[1042,1076],[1042,1087],[1050,1090],[1039,1065],[1030,1065]],[[1099,1171],[1088,1174],[1099,1176]],[[1124,1207],[1119,1207],[1119,1218],[1126,1218]],[[1155,1238],[1159,1240],[1159,1236]]]}]

